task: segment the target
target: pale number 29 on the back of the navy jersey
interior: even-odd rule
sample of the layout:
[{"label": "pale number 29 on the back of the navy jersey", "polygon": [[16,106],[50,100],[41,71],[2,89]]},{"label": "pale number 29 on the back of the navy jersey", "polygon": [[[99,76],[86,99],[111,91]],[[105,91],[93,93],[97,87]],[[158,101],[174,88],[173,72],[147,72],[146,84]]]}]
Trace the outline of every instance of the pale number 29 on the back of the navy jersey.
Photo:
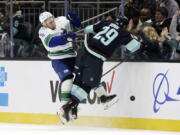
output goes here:
[{"label": "pale number 29 on the back of the navy jersey", "polygon": [[110,27],[103,27],[103,31],[98,32],[94,38],[100,40],[102,44],[108,46],[116,37],[118,32]]}]

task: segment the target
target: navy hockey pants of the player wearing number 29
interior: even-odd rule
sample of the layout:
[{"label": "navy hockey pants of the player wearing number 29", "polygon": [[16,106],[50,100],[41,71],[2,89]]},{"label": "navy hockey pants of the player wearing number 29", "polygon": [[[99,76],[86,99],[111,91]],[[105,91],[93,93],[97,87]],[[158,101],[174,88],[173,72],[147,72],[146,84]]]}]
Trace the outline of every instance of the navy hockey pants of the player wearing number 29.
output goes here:
[{"label": "navy hockey pants of the player wearing number 29", "polygon": [[87,93],[98,87],[102,76],[103,61],[81,49],[76,57],[74,84],[80,86]]}]

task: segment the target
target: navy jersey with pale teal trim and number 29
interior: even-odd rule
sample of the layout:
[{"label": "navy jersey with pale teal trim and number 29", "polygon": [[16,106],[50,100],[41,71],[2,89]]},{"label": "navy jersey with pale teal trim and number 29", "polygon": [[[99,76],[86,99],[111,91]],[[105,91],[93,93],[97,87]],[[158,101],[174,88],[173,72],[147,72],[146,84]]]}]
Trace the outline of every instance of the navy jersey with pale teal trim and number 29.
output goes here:
[{"label": "navy jersey with pale teal trim and number 29", "polygon": [[125,45],[131,52],[140,46],[140,43],[128,31],[120,28],[116,21],[98,22],[86,27],[85,33],[94,33],[90,40],[85,37],[86,50],[103,61],[111,57],[115,49],[121,45]]}]

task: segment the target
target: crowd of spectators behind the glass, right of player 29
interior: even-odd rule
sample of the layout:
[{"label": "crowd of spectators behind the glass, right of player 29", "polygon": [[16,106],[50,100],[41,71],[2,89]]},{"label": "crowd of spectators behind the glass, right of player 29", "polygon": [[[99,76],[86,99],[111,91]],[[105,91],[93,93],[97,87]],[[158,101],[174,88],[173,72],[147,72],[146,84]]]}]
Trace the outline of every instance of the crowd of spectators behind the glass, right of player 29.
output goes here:
[{"label": "crowd of spectators behind the glass, right of player 29", "polygon": [[127,30],[142,43],[131,59],[180,60],[180,10],[176,0],[125,0]]}]

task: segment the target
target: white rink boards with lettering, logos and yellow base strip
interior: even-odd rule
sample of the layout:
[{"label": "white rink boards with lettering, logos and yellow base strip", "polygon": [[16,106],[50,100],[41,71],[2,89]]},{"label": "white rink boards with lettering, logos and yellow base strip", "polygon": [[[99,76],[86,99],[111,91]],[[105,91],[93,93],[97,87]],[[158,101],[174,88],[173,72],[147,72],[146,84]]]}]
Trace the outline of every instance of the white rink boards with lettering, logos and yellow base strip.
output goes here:
[{"label": "white rink boards with lettering, logos and yellow base strip", "polygon": [[[118,62],[106,62],[104,73]],[[125,62],[102,78],[119,102],[103,110],[92,91],[77,126],[180,131],[180,63]],[[59,124],[58,76],[49,61],[0,61],[0,122]]]}]

